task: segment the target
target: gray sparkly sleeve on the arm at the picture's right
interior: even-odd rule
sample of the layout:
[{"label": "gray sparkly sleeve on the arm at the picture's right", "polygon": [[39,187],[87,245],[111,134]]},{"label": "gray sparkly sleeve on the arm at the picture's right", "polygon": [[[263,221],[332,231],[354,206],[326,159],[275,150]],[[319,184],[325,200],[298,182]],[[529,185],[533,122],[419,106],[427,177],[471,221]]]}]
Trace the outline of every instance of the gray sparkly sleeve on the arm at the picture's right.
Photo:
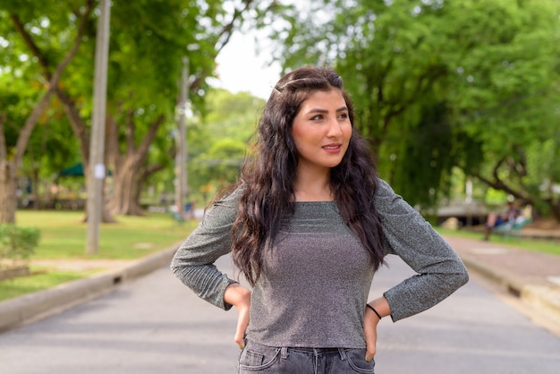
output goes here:
[{"label": "gray sparkly sleeve on the arm at the picture's right", "polygon": [[384,293],[394,322],[431,308],[468,282],[467,269],[451,246],[382,180],[376,208],[387,253],[418,273]]}]

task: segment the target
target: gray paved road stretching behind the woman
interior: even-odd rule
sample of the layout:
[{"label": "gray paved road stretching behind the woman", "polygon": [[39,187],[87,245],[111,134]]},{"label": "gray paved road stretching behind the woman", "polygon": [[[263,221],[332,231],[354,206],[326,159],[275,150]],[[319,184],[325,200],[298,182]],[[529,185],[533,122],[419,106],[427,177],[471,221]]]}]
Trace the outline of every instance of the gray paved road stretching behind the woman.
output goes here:
[{"label": "gray paved road stretching behind the woman", "polygon": [[[229,268],[228,262],[220,259],[220,266]],[[371,296],[411,274],[390,259]],[[233,310],[200,301],[162,268],[96,301],[0,334],[0,373],[234,373],[235,319]],[[556,374],[560,338],[475,278],[419,316],[395,324],[384,319],[376,361],[380,374]]]}]

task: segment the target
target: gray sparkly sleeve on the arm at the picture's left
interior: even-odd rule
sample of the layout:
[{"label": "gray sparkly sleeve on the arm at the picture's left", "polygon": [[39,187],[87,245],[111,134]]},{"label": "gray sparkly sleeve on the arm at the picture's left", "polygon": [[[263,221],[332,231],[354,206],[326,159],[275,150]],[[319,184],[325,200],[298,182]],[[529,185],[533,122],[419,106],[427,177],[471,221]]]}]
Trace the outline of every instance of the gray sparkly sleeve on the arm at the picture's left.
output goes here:
[{"label": "gray sparkly sleeve on the arm at the picture's left", "polygon": [[235,281],[219,271],[214,262],[231,251],[238,191],[213,204],[171,261],[174,275],[184,285],[201,299],[223,310],[232,308],[231,304],[224,302],[224,293],[225,288]]}]

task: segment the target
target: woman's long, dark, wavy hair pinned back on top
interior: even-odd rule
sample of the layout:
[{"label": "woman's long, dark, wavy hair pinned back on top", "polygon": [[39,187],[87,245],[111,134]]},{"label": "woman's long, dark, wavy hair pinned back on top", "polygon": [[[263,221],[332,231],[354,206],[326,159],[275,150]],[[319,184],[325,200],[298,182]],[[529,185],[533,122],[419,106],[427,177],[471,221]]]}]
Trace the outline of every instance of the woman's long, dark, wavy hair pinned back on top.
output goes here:
[{"label": "woman's long, dark, wavy hair pinned back on top", "polygon": [[352,138],[340,165],[331,170],[330,187],[346,224],[369,251],[373,267],[384,263],[383,234],[374,203],[377,171],[369,151],[356,132],[352,101],[343,80],[324,67],[304,67],[289,72],[276,83],[259,120],[255,156],[242,167],[242,196],[233,225],[233,263],[255,285],[262,253],[272,248],[282,217],[293,214],[293,182],[298,152],[292,136],[293,119],[301,104],[319,90],[338,89],[344,97]]}]

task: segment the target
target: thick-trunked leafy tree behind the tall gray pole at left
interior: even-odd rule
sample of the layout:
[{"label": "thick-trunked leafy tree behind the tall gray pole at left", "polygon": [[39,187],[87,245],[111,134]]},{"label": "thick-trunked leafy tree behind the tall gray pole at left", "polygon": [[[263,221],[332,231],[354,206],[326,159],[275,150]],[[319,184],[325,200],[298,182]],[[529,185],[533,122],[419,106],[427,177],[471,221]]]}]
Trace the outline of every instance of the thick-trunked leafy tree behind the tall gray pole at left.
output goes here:
[{"label": "thick-trunked leafy tree behind the tall gray pole at left", "polygon": [[[19,40],[13,43],[23,49],[23,41],[26,53],[33,57],[30,65],[42,79],[48,79],[55,69],[53,62],[75,35],[72,30],[77,28],[77,15],[84,12],[84,4],[91,6],[94,2],[48,1],[40,6],[28,3],[20,6],[21,2],[8,2],[4,14],[10,14],[10,33],[19,34]],[[252,0],[113,4],[106,121],[106,133],[113,134],[106,147],[107,163],[114,171],[114,194],[109,205],[113,214],[139,214],[142,183],[150,174],[170,165],[170,158],[159,157],[154,165],[149,159],[154,154],[173,157],[152,149],[152,145],[156,142],[165,149],[174,149],[168,134],[174,127],[177,77],[183,56],[190,54],[191,101],[199,107],[207,89],[206,79],[214,73],[215,57],[232,32],[241,27],[244,19],[259,20],[276,7],[274,1]],[[51,12],[53,9],[56,12]],[[55,86],[54,93],[64,107],[87,169],[96,22],[94,17],[84,20],[80,40],[85,47],[68,66],[63,83]],[[192,43],[199,46],[196,53],[186,48]],[[104,221],[111,220],[109,210],[104,212]]]}]

